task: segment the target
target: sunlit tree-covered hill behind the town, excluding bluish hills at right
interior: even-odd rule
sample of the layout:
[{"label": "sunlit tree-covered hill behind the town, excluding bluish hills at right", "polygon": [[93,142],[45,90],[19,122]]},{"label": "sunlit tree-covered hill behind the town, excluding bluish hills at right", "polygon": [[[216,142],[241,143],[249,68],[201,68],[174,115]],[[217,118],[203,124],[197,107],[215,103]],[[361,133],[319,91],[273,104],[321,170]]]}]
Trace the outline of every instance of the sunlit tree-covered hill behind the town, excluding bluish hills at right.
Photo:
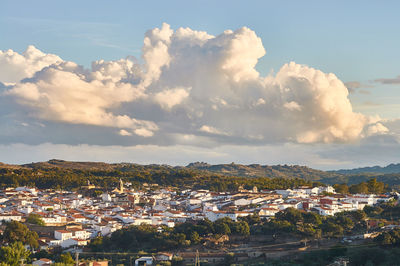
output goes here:
[{"label": "sunlit tree-covered hill behind the town, excluding bluish hills at right", "polygon": [[106,189],[114,188],[122,178],[140,187],[144,183],[162,186],[204,188],[213,191],[233,191],[239,186],[245,188],[257,186],[259,189],[285,189],[303,185],[318,185],[300,178],[246,178],[217,175],[193,169],[173,168],[169,166],[125,165],[119,170],[113,169],[74,169],[61,167],[0,168],[0,187],[36,186],[38,188],[76,189],[85,185],[87,180]]}]

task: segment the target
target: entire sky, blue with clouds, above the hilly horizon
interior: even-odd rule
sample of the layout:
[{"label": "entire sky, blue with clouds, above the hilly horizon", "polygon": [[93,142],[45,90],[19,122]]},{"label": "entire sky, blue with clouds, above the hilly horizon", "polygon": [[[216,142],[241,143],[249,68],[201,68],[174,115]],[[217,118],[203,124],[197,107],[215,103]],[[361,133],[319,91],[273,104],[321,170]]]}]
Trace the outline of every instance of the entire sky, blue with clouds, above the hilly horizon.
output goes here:
[{"label": "entire sky, blue with clouds, above the hilly horizon", "polygon": [[398,1],[0,8],[0,161],[399,163]]}]

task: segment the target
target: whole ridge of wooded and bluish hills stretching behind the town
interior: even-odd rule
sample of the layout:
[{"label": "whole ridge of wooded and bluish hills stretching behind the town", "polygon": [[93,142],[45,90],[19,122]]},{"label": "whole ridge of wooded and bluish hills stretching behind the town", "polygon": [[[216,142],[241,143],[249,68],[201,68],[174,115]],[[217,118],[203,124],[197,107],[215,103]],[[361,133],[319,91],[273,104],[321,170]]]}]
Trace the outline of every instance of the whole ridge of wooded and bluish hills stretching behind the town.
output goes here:
[{"label": "whole ridge of wooded and bluish hills stretching behind the town", "polygon": [[25,165],[0,164],[0,187],[28,185],[38,188],[79,188],[90,180],[103,188],[110,188],[122,178],[134,187],[143,183],[165,186],[207,188],[214,191],[232,191],[240,185],[258,189],[293,188],[301,185],[324,184],[354,185],[368,182],[372,178],[383,182],[389,188],[400,187],[400,174],[355,174],[314,170],[297,165],[208,165],[193,163],[187,167],[169,165],[139,165],[133,163],[48,162]]}]

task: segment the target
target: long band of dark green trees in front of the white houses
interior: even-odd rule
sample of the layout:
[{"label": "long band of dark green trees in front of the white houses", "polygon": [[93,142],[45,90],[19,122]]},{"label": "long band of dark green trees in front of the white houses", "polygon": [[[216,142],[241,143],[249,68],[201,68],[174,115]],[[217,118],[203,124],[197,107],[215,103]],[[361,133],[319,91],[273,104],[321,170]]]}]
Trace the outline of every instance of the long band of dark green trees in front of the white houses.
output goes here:
[{"label": "long band of dark green trees in front of the white houses", "polygon": [[[379,208],[380,211],[377,212],[371,208]],[[313,212],[288,208],[269,220],[262,220],[258,215],[240,218],[238,222],[229,218],[215,222],[206,219],[197,223],[181,223],[172,229],[163,227],[162,231],[149,225],[130,226],[114,232],[110,237],[95,239],[91,247],[94,251],[111,249],[155,252],[187,247],[204,242],[210,236],[215,239],[221,235],[273,235],[274,238],[290,235],[303,239],[339,238],[365,233],[367,218],[385,219],[387,212],[400,213],[400,207],[382,204],[369,207],[366,211],[341,212],[333,216],[321,216]]]}]

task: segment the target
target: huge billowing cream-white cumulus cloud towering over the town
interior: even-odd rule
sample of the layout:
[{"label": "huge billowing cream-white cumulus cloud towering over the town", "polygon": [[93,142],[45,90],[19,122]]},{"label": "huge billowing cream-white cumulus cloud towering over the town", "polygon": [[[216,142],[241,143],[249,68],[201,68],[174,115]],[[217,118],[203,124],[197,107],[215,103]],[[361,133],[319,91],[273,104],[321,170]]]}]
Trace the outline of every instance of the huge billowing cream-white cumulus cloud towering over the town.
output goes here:
[{"label": "huge billowing cream-white cumulus cloud towering over the town", "polygon": [[27,60],[28,52],[0,53],[0,69],[18,69],[13,79],[0,76],[17,82],[2,97],[13,97],[39,120],[114,127],[123,138],[134,133],[169,144],[190,144],[187,136],[231,144],[331,143],[389,133],[379,118],[352,110],[334,74],[291,62],[261,77],[255,67],[265,49],[246,27],[212,36],[163,24],[145,34],[142,62],[99,60],[91,69],[27,51],[40,59],[26,69],[1,58]]}]

